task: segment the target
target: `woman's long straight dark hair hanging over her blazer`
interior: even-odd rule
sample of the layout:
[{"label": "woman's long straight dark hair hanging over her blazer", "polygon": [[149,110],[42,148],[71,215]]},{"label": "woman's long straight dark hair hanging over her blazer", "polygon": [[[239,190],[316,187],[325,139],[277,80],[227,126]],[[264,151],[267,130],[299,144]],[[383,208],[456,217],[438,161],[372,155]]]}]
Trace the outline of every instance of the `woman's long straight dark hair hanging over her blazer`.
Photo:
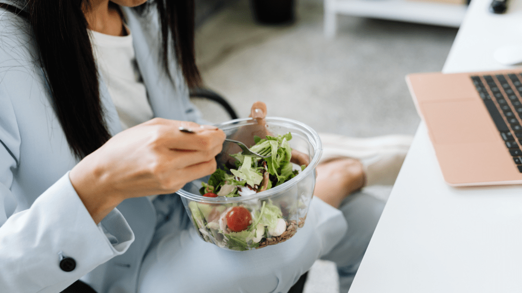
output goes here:
[{"label": "woman's long straight dark hair hanging over her blazer", "polygon": [[[54,108],[70,149],[79,159],[111,137],[100,102],[98,71],[82,5],[88,0],[27,0],[25,11],[0,3],[29,20],[39,60],[50,86]],[[142,13],[156,6],[160,16],[163,68],[170,76],[169,40],[189,87],[200,83],[194,53],[194,0],[156,0],[137,7]]]}]

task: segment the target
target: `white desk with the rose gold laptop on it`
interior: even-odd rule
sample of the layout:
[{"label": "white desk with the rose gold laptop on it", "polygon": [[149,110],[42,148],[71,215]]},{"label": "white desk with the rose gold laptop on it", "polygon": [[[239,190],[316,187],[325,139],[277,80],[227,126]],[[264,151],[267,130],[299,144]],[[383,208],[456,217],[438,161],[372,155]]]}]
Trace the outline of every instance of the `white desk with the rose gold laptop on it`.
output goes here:
[{"label": "white desk with the rose gold laptop on it", "polygon": [[[522,44],[522,0],[490,1],[471,1],[444,72],[506,68],[495,48]],[[350,289],[379,292],[522,292],[522,186],[449,187],[421,123]]]}]

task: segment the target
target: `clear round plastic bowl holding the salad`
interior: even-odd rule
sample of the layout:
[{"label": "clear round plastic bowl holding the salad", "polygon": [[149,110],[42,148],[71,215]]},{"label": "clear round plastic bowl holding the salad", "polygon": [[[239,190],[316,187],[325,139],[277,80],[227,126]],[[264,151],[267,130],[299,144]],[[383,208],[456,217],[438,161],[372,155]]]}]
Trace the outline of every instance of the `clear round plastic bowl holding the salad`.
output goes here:
[{"label": "clear round plastic bowl holding the salad", "polygon": [[[228,138],[232,138],[240,127],[256,124],[257,122],[251,118],[243,118],[219,124],[217,127],[222,129]],[[315,167],[322,152],[321,140],[312,128],[292,119],[267,117],[266,126],[272,136],[290,132],[292,139],[289,143],[292,150],[301,152],[310,163],[289,181],[251,196],[203,197],[200,195],[199,189],[202,186],[201,182],[207,182],[209,176],[189,182],[177,193],[180,194],[185,209],[201,239],[214,243],[223,249],[242,251],[276,245],[288,240],[303,227],[315,186]],[[237,140],[238,138],[234,137],[234,139]],[[223,147],[222,152],[226,152],[227,149]],[[222,220],[220,223],[220,219],[233,206],[245,207],[251,212],[253,219],[256,212],[260,213],[264,208],[276,206],[281,210],[286,230],[281,235],[276,236],[281,229],[279,231],[274,231],[274,229],[270,231],[267,227],[257,229],[259,227],[256,225],[252,239],[236,237],[238,235],[227,229]],[[254,224],[251,224],[251,226]],[[281,225],[282,223],[280,223]],[[271,234],[271,232],[274,234]]]}]

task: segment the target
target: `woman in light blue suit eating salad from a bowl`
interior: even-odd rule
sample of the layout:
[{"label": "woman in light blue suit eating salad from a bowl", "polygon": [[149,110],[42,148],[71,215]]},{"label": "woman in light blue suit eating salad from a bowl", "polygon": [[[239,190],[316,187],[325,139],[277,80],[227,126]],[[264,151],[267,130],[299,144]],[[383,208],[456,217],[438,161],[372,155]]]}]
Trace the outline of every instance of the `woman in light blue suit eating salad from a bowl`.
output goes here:
[{"label": "woman in light blue suit eating salad from a bowl", "polygon": [[194,236],[172,193],[213,172],[224,135],[188,101],[192,2],[0,2],[0,288],[286,292],[319,257],[351,282],[383,206],[332,207],[365,184],[357,160],[318,168],[323,200],[289,241],[236,253]]}]

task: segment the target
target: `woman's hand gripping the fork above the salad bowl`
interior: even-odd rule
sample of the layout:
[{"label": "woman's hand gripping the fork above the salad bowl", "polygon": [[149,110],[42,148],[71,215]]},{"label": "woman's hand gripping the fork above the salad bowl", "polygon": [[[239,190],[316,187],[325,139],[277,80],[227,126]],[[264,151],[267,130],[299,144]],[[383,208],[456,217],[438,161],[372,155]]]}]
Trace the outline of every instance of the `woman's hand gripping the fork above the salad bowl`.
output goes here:
[{"label": "woman's hand gripping the fork above the salad bowl", "polygon": [[[180,126],[196,133],[181,132]],[[99,223],[124,199],[172,193],[212,174],[224,138],[216,127],[155,118],[115,135],[81,160],[69,178]]]}]

